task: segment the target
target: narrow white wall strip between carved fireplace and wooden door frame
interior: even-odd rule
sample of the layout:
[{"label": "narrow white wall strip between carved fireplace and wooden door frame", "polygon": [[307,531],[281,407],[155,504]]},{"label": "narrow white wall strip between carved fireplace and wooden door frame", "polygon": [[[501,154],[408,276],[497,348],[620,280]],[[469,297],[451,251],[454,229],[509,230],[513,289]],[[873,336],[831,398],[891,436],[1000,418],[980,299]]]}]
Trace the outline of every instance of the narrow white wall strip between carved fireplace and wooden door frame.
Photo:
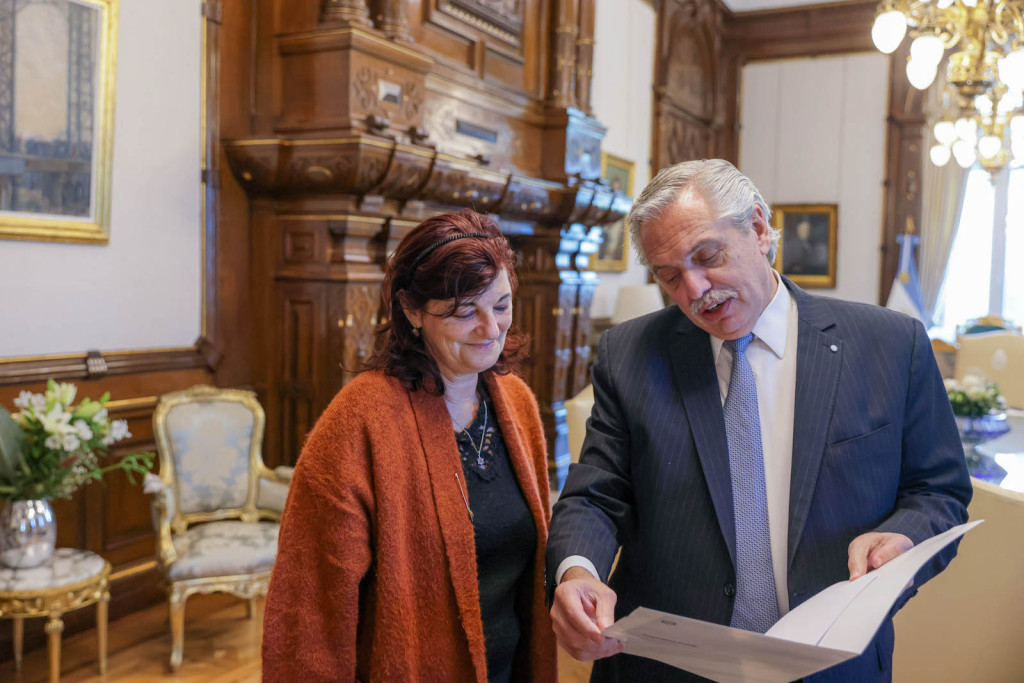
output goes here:
[{"label": "narrow white wall strip between carved fireplace and wooden door frame", "polygon": [[[643,0],[601,0],[594,25],[594,116],[607,126],[602,148],[636,163],[633,194],[650,179],[651,85],[654,78],[654,9]],[[647,282],[647,269],[630,249],[625,272],[602,272],[591,314],[607,317],[620,287]]]}]

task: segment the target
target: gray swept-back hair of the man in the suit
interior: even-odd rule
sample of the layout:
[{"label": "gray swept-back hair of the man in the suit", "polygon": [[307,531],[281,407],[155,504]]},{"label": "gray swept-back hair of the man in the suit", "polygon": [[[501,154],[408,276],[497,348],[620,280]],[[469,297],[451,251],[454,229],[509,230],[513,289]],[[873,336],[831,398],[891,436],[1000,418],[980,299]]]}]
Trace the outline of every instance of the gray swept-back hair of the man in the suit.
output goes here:
[{"label": "gray swept-back hair of the man in the suit", "polygon": [[725,218],[737,228],[754,229],[754,207],[761,207],[771,237],[768,263],[775,262],[780,234],[771,225],[771,209],[761,193],[750,178],[724,159],[702,159],[662,169],[633,203],[626,224],[630,226],[630,239],[640,263],[650,265],[643,251],[644,228],[657,220],[685,189],[707,202],[716,219]]}]

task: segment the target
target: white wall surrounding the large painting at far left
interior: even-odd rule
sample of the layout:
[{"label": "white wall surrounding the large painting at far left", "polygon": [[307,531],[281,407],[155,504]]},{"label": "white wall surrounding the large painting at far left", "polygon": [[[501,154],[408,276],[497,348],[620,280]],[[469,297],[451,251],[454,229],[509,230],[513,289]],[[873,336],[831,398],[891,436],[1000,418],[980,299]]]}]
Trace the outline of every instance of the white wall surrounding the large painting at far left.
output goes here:
[{"label": "white wall surrounding the large painting at far left", "polygon": [[0,357],[200,335],[200,2],[120,6],[110,244],[0,242]]}]

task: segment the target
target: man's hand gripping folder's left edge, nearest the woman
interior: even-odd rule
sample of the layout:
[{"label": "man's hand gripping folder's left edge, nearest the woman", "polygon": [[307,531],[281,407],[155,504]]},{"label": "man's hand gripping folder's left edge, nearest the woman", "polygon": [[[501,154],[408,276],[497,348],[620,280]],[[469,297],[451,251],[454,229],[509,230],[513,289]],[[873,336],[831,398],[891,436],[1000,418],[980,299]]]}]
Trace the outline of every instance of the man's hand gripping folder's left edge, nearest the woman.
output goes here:
[{"label": "man's hand gripping folder's left edge, nearest the woman", "polygon": [[555,638],[566,652],[581,661],[618,654],[623,643],[601,635],[614,621],[614,591],[583,567],[571,567],[562,574],[551,605],[551,622]]}]

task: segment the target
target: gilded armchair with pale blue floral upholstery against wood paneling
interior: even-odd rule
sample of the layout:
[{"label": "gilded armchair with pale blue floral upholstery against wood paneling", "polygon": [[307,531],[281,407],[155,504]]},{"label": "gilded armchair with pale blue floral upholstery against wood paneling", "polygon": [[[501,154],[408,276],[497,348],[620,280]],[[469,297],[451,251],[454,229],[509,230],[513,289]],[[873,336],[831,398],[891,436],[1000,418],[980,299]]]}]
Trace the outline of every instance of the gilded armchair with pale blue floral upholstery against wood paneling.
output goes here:
[{"label": "gilded armchair with pale blue floral upholstery against wood paneling", "polygon": [[161,396],[153,415],[160,475],[153,495],[157,563],[167,578],[171,670],[181,665],[184,607],[196,593],[266,595],[292,468],[263,464],[264,417],[251,391],[195,386]]}]

